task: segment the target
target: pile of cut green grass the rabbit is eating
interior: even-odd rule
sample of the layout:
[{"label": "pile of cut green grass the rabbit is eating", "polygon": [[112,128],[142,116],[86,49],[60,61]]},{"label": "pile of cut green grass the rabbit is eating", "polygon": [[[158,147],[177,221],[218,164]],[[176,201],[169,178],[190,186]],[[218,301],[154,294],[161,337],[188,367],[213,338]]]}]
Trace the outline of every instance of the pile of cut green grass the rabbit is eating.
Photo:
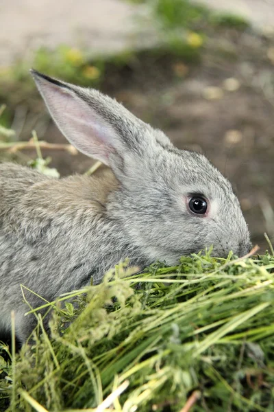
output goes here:
[{"label": "pile of cut green grass the rabbit is eating", "polygon": [[273,411],[273,268],[268,253],[117,266],[44,305],[51,340],[1,347],[0,410]]}]

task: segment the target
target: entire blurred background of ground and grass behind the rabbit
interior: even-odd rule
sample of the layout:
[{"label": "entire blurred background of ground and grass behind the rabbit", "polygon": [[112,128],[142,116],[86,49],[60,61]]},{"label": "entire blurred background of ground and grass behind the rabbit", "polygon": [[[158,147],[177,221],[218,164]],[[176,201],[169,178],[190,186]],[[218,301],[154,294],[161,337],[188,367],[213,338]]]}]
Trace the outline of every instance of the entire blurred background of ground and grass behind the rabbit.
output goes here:
[{"label": "entire blurred background of ground and grass behind the rabbit", "polygon": [[92,165],[51,122],[35,67],[100,89],[206,154],[232,181],[253,243],[270,249],[274,0],[1,0],[0,10],[0,161],[61,175]]}]

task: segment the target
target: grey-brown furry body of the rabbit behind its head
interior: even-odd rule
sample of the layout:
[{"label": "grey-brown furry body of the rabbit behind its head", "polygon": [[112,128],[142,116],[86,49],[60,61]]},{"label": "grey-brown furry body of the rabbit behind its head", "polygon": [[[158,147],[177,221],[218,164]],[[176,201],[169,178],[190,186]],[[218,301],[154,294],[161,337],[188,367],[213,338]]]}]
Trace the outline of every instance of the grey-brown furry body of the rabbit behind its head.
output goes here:
[{"label": "grey-brown furry body of the rabbit behind its head", "polygon": [[[101,280],[96,276],[105,271],[105,256],[112,250],[115,261],[119,253],[118,245],[117,251],[110,245],[116,233],[102,237],[108,194],[117,186],[110,170],[58,180],[20,165],[0,165],[0,335],[12,308],[16,322],[25,323],[21,285],[51,301],[85,286],[92,275],[95,283]],[[29,304],[42,304],[23,291]]]}]

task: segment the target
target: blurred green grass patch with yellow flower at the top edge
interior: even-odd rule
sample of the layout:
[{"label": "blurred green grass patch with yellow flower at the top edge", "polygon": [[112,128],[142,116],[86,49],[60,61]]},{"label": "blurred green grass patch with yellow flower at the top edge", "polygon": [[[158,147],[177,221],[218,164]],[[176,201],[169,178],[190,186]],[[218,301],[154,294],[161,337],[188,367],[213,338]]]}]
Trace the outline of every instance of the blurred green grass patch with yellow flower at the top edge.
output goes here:
[{"label": "blurred green grass patch with yellow flower at the top edge", "polygon": [[242,32],[249,22],[236,14],[213,12],[199,2],[189,0],[130,0],[145,3],[151,25],[158,32],[160,45],[169,53],[197,62],[212,29],[235,29]]}]

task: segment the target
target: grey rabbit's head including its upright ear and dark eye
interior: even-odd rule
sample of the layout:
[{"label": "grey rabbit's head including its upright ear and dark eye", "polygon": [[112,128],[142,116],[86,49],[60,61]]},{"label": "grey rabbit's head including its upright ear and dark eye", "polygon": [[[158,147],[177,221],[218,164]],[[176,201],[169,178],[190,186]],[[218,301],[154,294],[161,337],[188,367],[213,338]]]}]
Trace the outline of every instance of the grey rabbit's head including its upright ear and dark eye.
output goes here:
[{"label": "grey rabbit's head including its upright ear and dark eye", "polygon": [[175,148],[164,133],[99,91],[32,74],[71,144],[112,169],[120,186],[110,194],[108,216],[122,222],[149,260],[174,264],[211,245],[221,257],[250,250],[238,198],[206,157]]}]

